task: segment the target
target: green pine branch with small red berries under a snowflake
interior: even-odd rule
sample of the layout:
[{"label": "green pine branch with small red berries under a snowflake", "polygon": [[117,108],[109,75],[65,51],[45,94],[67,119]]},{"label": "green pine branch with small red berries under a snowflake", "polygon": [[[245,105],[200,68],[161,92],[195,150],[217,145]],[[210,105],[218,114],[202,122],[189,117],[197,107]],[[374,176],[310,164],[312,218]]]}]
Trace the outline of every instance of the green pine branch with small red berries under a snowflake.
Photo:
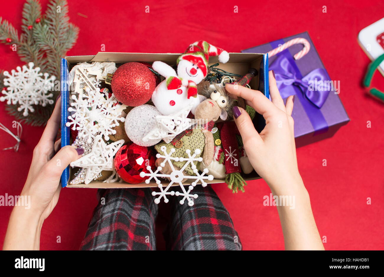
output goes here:
[{"label": "green pine branch with small red berries under a snowflake", "polygon": [[[0,42],[8,45],[16,44],[20,59],[26,63],[32,61],[40,71],[55,75],[60,79],[61,57],[76,43],[79,28],[69,23],[68,3],[66,0],[51,0],[47,5],[44,16],[41,16],[41,5],[38,0],[26,0],[22,12],[22,31],[20,38],[18,31],[7,20],[0,17]],[[36,19],[40,18],[40,22]],[[28,28],[32,26],[32,28]],[[6,41],[7,38],[11,42]],[[0,77],[2,84],[3,76]],[[0,89],[3,86],[0,86]],[[51,91],[56,97],[60,92]],[[17,105],[6,105],[9,114],[18,120],[32,126],[45,125],[50,117],[53,105],[34,106],[35,112],[28,117],[17,110]]]}]

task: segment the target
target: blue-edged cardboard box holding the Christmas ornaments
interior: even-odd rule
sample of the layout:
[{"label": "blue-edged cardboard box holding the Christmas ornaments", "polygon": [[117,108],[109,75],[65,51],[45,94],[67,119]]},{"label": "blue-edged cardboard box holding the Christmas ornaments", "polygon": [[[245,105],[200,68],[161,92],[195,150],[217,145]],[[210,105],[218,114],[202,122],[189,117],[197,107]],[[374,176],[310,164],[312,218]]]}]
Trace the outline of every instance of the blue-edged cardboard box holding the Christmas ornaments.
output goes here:
[{"label": "blue-edged cardboard box holding the Christmas ornaments", "polygon": [[[69,84],[68,84],[68,73],[70,69],[81,62],[94,62],[94,61],[112,61],[116,64],[123,64],[132,61],[147,62],[152,64],[154,61],[163,61],[164,63],[170,64],[171,66],[176,64],[176,60],[180,54],[172,53],[106,53],[99,52],[95,56],[70,56],[61,60],[61,147],[70,145],[70,127],[66,127],[68,120],[68,107],[69,107]],[[250,82],[250,86],[253,89],[258,89],[263,92],[266,97],[269,97],[268,89],[268,56],[266,54],[255,54],[255,53],[229,53],[229,61],[225,64],[220,64],[218,67],[221,69],[245,75],[249,68],[256,68],[259,70],[257,77],[254,77]],[[210,57],[209,62],[215,64],[218,62],[217,57]],[[258,129],[263,129],[265,122],[263,118],[255,116],[255,126]],[[63,171],[61,175],[61,186],[71,188],[139,188],[139,187],[157,187],[155,182],[149,184],[141,183],[137,185],[131,185],[129,183],[103,183],[101,181],[92,181],[88,185],[70,185],[69,182],[74,178],[74,172],[72,168],[68,167]],[[250,173],[246,176],[245,180],[253,180],[260,178],[256,172]],[[207,183],[223,183],[225,180],[214,179]],[[185,185],[189,185],[190,182],[185,182]]]}]

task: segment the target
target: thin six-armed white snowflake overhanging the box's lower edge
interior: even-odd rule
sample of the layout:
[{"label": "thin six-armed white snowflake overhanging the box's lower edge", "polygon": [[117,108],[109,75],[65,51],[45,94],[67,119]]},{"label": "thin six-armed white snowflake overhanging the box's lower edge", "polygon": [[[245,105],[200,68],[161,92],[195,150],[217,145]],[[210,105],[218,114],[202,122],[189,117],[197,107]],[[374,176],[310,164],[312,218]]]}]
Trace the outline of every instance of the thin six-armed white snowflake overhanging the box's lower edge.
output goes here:
[{"label": "thin six-armed white snowflake overhanging the box's lower edge", "polygon": [[[160,150],[164,153],[164,155],[161,155],[161,154],[158,153],[156,155],[156,157],[157,158],[164,158],[164,161],[160,164],[159,167],[157,167],[157,170],[155,172],[153,172],[151,167],[148,166],[147,170],[149,171],[149,173],[145,173],[145,172],[141,172],[140,173],[141,178],[144,178],[145,176],[149,176],[149,178],[147,180],[145,180],[145,182],[147,184],[149,184],[149,182],[153,178],[156,181],[156,184],[158,185],[158,187],[160,188],[160,192],[156,192],[156,191],[152,192],[153,196],[158,195],[158,197],[155,198],[155,203],[159,204],[161,198],[164,198],[164,202],[168,203],[169,199],[167,198],[167,195],[175,195],[175,196],[183,196],[182,200],[180,200],[180,204],[184,204],[184,201],[187,200],[188,201],[188,205],[189,206],[193,206],[193,204],[194,204],[193,199],[197,198],[197,196],[198,196],[197,194],[192,194],[191,193],[193,188],[197,185],[197,183],[199,181],[201,182],[201,185],[203,187],[205,187],[205,186],[207,186],[207,183],[204,180],[212,181],[214,179],[214,176],[212,176],[212,175],[205,175],[205,174],[207,174],[209,172],[209,170],[207,168],[205,168],[203,170],[203,173],[200,174],[199,170],[197,170],[196,166],[194,165],[195,161],[201,162],[203,160],[202,157],[196,158],[196,155],[199,155],[201,150],[200,149],[195,149],[195,152],[194,152],[194,154],[192,156],[190,155],[191,152],[190,152],[189,149],[185,150],[185,153],[187,153],[188,158],[184,158],[184,157],[171,157],[172,153],[174,153],[176,151],[175,148],[171,148],[170,153],[167,153],[167,147],[165,147],[163,145],[160,148]],[[175,162],[186,161],[186,163],[184,164],[184,166],[182,168],[180,168],[180,170],[175,170],[175,167],[172,164],[172,161],[175,161]],[[172,169],[172,172],[170,174],[159,173],[162,170],[162,167],[165,166],[166,162],[169,164],[170,168]],[[184,175],[184,169],[189,164],[191,164],[192,170],[195,173],[195,175]],[[158,177],[160,177],[160,178],[169,178],[170,179],[170,182],[166,186],[165,189],[163,188],[163,185],[162,185],[161,181],[158,179]],[[183,179],[192,179],[192,180],[195,180],[195,181],[193,181],[191,183],[191,185],[188,186],[188,190],[185,190],[185,187],[184,187],[184,185],[182,183]],[[174,183],[178,183],[179,184],[182,192],[171,190],[172,184],[174,184]]]}]

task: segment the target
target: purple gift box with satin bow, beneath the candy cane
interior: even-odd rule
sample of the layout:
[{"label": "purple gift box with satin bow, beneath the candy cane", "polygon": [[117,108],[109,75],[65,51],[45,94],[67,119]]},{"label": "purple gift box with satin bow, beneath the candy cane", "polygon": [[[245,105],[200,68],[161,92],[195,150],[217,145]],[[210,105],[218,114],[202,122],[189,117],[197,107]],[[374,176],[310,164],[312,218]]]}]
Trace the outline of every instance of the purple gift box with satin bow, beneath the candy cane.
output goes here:
[{"label": "purple gift box with satin bow, beneath the candy cane", "polygon": [[332,137],[349,117],[338,96],[339,81],[331,81],[308,32],[242,50],[244,53],[268,53],[294,38],[305,38],[310,50],[298,60],[293,56],[302,44],[290,46],[269,58],[283,99],[295,95],[292,117],[295,120],[296,146]]}]

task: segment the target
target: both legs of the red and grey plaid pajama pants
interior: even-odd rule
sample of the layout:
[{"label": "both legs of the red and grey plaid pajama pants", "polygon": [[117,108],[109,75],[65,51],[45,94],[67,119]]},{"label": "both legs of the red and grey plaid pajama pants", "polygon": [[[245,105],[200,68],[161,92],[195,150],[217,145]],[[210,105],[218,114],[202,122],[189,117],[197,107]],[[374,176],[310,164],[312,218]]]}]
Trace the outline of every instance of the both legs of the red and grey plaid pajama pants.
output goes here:
[{"label": "both legs of the red and grey plaid pajama pants", "polygon": [[[167,250],[241,250],[232,219],[209,186],[196,186],[194,206],[171,196],[170,222],[164,231]],[[99,189],[81,250],[156,250],[158,206],[150,188]]]}]

